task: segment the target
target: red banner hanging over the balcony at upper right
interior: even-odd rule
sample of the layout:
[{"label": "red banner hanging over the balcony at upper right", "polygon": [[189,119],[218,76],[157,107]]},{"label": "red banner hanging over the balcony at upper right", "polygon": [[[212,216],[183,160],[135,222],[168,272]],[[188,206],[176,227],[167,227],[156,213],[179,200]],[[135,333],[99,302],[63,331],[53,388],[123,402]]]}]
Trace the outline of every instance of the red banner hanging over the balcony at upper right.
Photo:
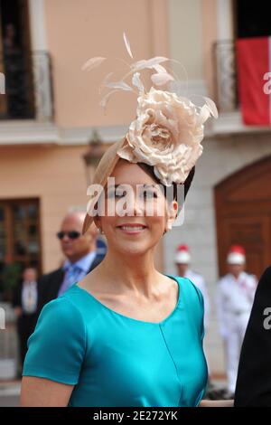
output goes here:
[{"label": "red banner hanging over the balcony at upper right", "polygon": [[237,68],[238,95],[244,123],[270,126],[271,37],[239,39]]}]

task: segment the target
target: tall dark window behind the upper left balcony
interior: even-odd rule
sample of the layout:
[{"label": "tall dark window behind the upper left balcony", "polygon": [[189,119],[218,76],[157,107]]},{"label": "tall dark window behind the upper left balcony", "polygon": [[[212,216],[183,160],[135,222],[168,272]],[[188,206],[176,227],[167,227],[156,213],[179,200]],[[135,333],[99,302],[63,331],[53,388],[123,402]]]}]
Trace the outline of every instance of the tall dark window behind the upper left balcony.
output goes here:
[{"label": "tall dark window behind the upper left balcony", "polygon": [[0,0],[0,71],[5,74],[0,118],[34,118],[33,57],[27,0]]}]

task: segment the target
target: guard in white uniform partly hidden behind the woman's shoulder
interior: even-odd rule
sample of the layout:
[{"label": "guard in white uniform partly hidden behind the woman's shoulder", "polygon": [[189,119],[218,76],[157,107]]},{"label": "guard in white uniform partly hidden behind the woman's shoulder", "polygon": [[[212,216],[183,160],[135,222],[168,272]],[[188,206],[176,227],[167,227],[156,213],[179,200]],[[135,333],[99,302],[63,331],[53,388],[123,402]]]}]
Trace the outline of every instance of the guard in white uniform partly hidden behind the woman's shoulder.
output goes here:
[{"label": "guard in white uniform partly hidden behind the woman's shoulder", "polygon": [[191,253],[187,245],[180,245],[177,248],[175,255],[175,264],[178,269],[178,276],[190,279],[192,283],[194,283],[196,287],[199,288],[201,291],[204,300],[204,328],[206,331],[210,316],[210,300],[208,289],[204,278],[200,274],[195,273],[194,271],[192,271],[192,269],[189,268],[191,264]]}]

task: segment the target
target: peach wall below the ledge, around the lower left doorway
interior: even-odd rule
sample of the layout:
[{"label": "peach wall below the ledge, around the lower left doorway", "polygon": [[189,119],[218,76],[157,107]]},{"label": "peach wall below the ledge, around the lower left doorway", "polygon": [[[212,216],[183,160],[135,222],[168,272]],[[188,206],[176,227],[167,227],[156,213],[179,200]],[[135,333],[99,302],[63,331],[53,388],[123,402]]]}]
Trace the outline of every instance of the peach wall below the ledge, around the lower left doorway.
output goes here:
[{"label": "peach wall below the ledge, around the lower left doorway", "polygon": [[[55,237],[70,206],[86,205],[81,154],[86,147],[22,146],[0,148],[0,199],[37,197],[41,202],[42,267],[61,260]],[[4,184],[5,182],[5,184]]]}]

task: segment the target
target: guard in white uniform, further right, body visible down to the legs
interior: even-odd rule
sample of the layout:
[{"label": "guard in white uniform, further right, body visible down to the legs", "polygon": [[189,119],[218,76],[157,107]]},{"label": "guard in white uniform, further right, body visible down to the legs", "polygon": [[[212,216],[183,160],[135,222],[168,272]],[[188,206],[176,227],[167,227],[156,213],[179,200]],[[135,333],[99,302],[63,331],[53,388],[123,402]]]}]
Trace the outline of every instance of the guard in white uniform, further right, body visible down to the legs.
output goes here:
[{"label": "guard in white uniform, further right, body visible down to the legs", "polygon": [[220,279],[217,288],[217,313],[220,335],[224,340],[228,391],[235,392],[238,361],[248,319],[257,288],[257,279],[245,269],[245,250],[238,245],[229,250],[229,273]]}]

